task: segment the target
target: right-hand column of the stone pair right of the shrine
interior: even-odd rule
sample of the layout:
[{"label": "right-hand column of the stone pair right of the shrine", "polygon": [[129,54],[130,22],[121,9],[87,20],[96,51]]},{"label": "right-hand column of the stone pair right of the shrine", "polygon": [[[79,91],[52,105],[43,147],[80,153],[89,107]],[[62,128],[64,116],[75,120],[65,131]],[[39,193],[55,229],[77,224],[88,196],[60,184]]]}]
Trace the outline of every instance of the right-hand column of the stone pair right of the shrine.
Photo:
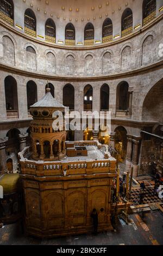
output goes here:
[{"label": "right-hand column of the stone pair right of the shrine", "polygon": [[136,178],[139,172],[139,140],[133,139],[133,177]]}]

